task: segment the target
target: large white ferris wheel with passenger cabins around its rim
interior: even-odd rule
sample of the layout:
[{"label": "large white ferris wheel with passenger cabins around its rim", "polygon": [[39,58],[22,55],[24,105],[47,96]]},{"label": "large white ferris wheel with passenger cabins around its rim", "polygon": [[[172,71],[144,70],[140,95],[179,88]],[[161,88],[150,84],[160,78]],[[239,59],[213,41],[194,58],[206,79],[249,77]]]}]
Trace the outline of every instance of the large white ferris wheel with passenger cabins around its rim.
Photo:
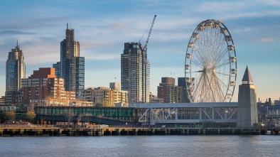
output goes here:
[{"label": "large white ferris wheel with passenger cabins around its rim", "polygon": [[185,55],[190,102],[230,102],[235,91],[235,45],[221,21],[206,20],[193,31]]}]

